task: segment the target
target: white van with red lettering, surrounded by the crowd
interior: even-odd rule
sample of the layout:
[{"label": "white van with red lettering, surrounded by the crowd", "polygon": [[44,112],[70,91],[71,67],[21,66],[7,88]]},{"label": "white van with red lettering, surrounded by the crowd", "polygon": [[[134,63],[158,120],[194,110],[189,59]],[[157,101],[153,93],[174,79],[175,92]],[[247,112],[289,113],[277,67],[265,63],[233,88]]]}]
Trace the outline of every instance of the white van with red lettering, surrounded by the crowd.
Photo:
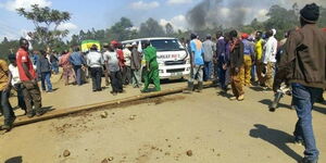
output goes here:
[{"label": "white van with red lettering, surrounded by the crowd", "polygon": [[[151,46],[156,49],[160,78],[161,79],[179,79],[189,77],[190,74],[190,55],[177,38],[153,37],[140,38],[122,41],[123,45],[149,40]],[[141,43],[142,45],[142,43]],[[142,62],[143,64],[143,62]]]}]

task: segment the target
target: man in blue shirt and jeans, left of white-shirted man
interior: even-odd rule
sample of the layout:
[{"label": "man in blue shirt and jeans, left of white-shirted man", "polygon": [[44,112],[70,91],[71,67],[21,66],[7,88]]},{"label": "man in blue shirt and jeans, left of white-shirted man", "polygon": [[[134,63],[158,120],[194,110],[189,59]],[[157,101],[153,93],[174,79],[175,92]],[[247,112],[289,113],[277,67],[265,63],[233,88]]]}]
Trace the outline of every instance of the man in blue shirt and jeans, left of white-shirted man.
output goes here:
[{"label": "man in blue shirt and jeans, left of white-shirted man", "polygon": [[74,52],[70,55],[70,62],[72,63],[75,72],[76,83],[78,86],[82,86],[83,85],[82,67],[86,65],[86,62],[83,54],[80,53],[79,47],[74,48]]}]

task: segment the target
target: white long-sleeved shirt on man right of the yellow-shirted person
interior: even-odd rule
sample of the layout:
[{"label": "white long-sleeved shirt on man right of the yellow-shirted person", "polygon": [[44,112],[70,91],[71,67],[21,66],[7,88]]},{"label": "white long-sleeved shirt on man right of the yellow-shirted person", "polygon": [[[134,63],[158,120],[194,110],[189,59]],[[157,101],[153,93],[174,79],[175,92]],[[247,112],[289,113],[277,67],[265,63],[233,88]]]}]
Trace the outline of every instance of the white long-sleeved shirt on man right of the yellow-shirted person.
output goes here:
[{"label": "white long-sleeved shirt on man right of the yellow-shirted person", "polygon": [[264,46],[263,63],[265,64],[267,64],[268,62],[275,63],[276,53],[277,53],[277,40],[274,36],[271,36]]}]

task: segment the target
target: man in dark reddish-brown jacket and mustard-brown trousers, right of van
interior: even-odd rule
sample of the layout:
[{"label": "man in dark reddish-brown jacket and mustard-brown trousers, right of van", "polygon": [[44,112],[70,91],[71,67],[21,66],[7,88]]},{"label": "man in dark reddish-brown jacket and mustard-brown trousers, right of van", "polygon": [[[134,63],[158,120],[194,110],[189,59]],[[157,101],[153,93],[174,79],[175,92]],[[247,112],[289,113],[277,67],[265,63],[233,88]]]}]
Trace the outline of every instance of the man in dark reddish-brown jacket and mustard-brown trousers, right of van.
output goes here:
[{"label": "man in dark reddish-brown jacket and mustard-brown trousers, right of van", "polygon": [[230,66],[230,78],[234,97],[230,100],[244,100],[244,91],[240,79],[240,70],[243,66],[243,43],[238,38],[237,30],[231,30],[230,36],[230,54],[229,54],[229,66]]}]

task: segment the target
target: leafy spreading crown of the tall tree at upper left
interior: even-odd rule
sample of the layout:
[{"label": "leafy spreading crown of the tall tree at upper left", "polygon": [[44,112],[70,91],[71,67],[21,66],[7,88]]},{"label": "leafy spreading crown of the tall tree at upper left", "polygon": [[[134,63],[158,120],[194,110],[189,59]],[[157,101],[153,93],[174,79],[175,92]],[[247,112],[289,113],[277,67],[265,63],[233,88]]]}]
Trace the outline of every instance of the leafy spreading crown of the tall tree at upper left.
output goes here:
[{"label": "leafy spreading crown of the tall tree at upper left", "polygon": [[17,9],[21,16],[30,20],[35,25],[33,34],[34,40],[45,47],[51,47],[54,41],[67,36],[68,30],[59,30],[58,26],[71,18],[68,12],[61,12],[48,7],[40,8],[38,4],[32,5],[32,11],[24,8]]}]

